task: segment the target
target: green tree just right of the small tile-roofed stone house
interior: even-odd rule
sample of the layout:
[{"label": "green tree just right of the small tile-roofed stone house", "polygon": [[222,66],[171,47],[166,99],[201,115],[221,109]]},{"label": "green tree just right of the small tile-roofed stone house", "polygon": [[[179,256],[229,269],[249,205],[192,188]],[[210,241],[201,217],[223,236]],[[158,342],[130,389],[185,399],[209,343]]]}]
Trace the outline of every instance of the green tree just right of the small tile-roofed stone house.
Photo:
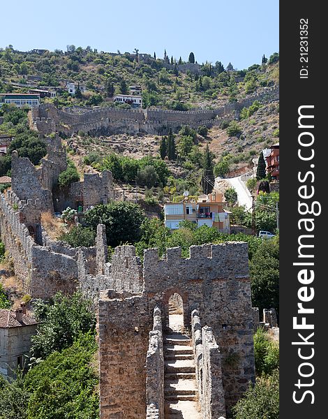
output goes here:
[{"label": "green tree just right of the small tile-roofed stone house", "polygon": [[57,293],[47,303],[37,300],[35,314],[40,324],[31,337],[34,358],[45,359],[54,351],[68,348],[82,333],[94,332],[96,326],[91,304],[80,293]]}]

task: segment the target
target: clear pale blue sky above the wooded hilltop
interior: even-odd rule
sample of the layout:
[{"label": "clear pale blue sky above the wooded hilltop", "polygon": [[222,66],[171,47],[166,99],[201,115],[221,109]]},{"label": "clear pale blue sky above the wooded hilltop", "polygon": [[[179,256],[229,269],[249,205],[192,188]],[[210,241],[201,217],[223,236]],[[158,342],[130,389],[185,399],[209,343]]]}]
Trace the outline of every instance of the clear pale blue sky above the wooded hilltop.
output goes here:
[{"label": "clear pale blue sky above the wooded hilltop", "polygon": [[[278,0],[1,1],[0,47],[149,52],[247,68],[278,52]],[[19,3],[19,2],[18,2]],[[28,5],[28,6],[27,6]],[[11,16],[11,18],[9,18]]]}]

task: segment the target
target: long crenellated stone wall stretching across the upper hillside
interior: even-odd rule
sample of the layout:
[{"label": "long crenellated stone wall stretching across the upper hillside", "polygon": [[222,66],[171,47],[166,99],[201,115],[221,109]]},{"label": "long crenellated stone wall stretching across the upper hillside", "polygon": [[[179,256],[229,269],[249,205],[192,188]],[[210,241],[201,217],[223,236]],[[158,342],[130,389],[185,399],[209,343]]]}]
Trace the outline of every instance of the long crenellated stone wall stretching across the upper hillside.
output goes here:
[{"label": "long crenellated stone wall stretching across the upper hillside", "polygon": [[117,108],[79,108],[58,110],[51,104],[33,108],[34,128],[40,133],[58,132],[72,135],[78,131],[90,135],[110,135],[114,133],[167,133],[169,128],[177,131],[182,125],[197,128],[200,125],[219,125],[223,120],[231,120],[242,108],[254,101],[278,101],[278,87],[267,88],[239,102],[227,103],[214,110],[174,111],[148,108],[147,110],[124,110]]}]

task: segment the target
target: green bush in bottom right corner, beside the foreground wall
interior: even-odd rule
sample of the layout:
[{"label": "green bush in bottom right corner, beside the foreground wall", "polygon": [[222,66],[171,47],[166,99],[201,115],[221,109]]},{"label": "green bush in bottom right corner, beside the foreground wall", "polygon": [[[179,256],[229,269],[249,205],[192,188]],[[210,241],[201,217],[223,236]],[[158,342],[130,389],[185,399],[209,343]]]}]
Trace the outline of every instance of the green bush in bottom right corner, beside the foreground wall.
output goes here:
[{"label": "green bush in bottom right corner, beside the foreground wall", "polygon": [[235,419],[279,418],[279,372],[257,378],[244,397],[232,408]]}]

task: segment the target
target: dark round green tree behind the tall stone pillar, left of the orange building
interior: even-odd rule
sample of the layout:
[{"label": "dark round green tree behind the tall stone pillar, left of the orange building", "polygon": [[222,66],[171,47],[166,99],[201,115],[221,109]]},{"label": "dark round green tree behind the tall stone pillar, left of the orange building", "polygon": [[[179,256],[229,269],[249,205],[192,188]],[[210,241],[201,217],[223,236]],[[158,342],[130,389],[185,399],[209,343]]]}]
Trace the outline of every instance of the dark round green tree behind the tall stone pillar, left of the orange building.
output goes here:
[{"label": "dark round green tree behind the tall stone pillar, left of the orange building", "polygon": [[105,224],[107,244],[112,247],[124,243],[134,244],[142,236],[144,213],[133,203],[114,202],[97,205],[85,214],[84,219],[87,226],[95,231],[98,224]]}]

